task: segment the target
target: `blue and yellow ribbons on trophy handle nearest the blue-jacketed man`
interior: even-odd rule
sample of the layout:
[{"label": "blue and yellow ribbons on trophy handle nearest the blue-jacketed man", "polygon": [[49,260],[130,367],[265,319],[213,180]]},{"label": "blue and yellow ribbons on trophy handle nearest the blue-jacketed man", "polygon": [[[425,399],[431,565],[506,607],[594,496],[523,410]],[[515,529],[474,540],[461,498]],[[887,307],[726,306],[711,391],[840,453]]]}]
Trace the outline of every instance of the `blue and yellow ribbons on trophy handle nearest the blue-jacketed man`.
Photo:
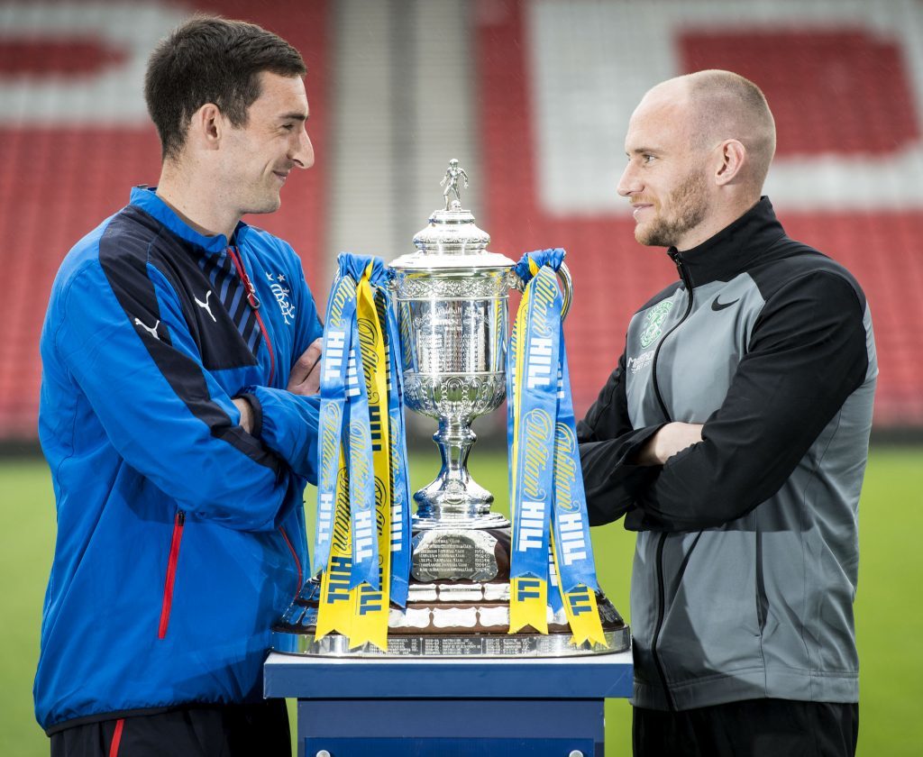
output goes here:
[{"label": "blue and yellow ribbons on trophy handle nearest the blue-jacketed man", "polygon": [[[321,373],[315,554],[323,571],[315,638],[335,631],[351,648],[387,649],[390,591],[406,602],[410,569],[409,558],[402,559],[410,549],[402,398],[393,379],[400,365],[389,346],[396,327],[380,258],[342,253],[338,263],[324,343],[330,333],[331,346],[342,344],[344,354],[334,351]],[[393,565],[392,555],[400,556]]]}]

